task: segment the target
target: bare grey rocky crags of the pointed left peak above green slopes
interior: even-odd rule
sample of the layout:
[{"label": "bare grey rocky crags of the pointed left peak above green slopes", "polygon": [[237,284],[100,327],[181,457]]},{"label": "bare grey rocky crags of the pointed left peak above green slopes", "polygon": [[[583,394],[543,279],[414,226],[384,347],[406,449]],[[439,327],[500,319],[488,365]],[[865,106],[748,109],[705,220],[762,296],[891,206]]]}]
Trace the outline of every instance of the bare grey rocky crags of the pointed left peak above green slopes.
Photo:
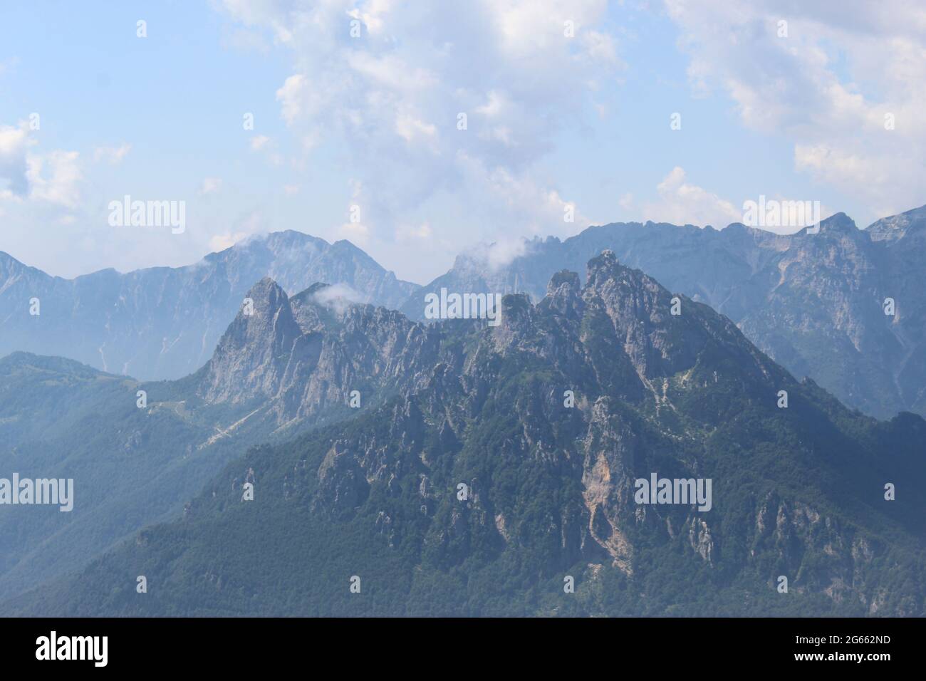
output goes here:
[{"label": "bare grey rocky crags of the pointed left peak above green slopes", "polygon": [[[334,297],[332,297],[334,296]],[[422,385],[441,334],[316,284],[292,299],[264,279],[200,372],[207,404],[255,403],[277,425],[346,413]]]}]

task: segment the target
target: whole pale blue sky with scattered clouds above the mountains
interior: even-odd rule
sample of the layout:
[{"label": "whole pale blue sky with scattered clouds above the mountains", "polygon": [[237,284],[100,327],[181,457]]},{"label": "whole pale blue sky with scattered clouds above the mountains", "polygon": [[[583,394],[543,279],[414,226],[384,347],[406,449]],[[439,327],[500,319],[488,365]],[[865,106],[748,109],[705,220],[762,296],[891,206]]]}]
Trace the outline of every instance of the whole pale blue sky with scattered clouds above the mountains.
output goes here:
[{"label": "whole pale blue sky with scattered clouds above the mountains", "polygon": [[6,2],[0,250],[73,277],[294,229],[423,284],[760,196],[865,227],[926,204],[924,84],[919,0]]}]

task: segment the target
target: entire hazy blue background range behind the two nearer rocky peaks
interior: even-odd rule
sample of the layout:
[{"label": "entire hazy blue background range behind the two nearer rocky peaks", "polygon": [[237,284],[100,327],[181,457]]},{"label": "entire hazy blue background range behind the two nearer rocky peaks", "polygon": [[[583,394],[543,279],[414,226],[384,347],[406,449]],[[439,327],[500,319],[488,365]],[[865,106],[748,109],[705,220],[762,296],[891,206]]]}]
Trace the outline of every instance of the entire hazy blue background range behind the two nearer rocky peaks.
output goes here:
[{"label": "entire hazy blue background range behind the two nearer rocky peaks", "polygon": [[[757,347],[797,376],[810,376],[845,404],[879,418],[926,415],[926,207],[859,230],[842,213],[818,233],[779,235],[665,223],[589,227],[566,240],[521,244],[504,261],[491,248],[457,256],[450,271],[419,287],[397,280],[349,242],[271,233],[183,268],[64,280],[0,253],[0,356],[22,350],[77,359],[143,380],[198,370],[242,304],[270,277],[288,294],[334,284],[354,302],[424,320],[425,296],[527,293],[536,302],[557,271],[583,276],[603,249],[670,290],[730,317]],[[38,298],[41,315],[29,314]],[[893,314],[885,314],[890,299]]]}]

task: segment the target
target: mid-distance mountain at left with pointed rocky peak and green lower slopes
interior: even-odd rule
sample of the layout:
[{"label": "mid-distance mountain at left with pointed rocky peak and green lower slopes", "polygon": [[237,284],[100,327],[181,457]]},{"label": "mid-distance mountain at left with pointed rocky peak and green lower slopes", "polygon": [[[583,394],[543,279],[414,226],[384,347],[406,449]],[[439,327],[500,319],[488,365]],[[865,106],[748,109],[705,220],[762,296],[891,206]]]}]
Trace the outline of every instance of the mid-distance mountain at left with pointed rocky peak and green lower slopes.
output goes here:
[{"label": "mid-distance mountain at left with pointed rocky peak and green lower slopes", "polygon": [[76,497],[70,512],[0,507],[0,598],[172,517],[248,446],[355,415],[353,391],[366,410],[418,385],[438,332],[341,290],[313,284],[290,298],[261,280],[211,359],[177,381],[0,359],[0,478],[71,478]]}]

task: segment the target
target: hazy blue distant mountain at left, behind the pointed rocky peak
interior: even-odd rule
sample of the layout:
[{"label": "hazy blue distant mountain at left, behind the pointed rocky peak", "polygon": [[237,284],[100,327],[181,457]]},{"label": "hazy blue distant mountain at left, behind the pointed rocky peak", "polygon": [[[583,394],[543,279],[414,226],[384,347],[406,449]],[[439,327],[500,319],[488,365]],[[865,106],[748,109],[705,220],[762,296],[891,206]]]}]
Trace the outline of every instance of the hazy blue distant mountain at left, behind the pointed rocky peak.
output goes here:
[{"label": "hazy blue distant mountain at left, behind the pointed rocky peak", "polygon": [[[0,252],[0,356],[22,350],[144,380],[180,378],[209,359],[248,287],[265,276],[290,293],[344,284],[358,302],[388,308],[418,288],[350,242],[293,231],[253,237],[187,267],[72,280]],[[39,315],[30,314],[32,298]]]}]

